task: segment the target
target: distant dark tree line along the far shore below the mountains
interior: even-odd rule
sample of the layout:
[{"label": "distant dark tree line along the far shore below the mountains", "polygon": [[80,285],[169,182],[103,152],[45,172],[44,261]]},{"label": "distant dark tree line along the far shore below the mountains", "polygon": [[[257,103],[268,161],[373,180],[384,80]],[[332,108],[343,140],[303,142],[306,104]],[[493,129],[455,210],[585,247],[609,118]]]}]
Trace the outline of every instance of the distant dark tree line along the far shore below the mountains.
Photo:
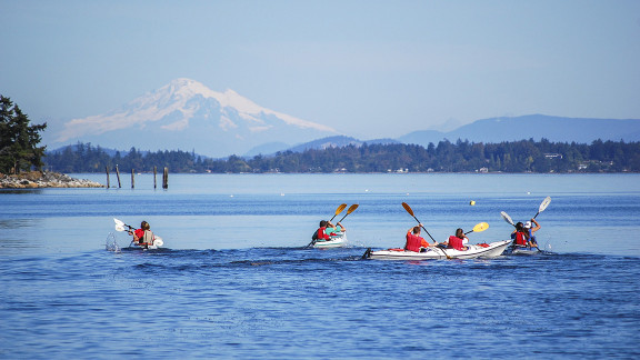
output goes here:
[{"label": "distant dark tree line along the far shore below the mountains", "polygon": [[106,168],[150,172],[168,167],[171,172],[213,173],[326,173],[326,172],[640,172],[640,142],[602,141],[590,144],[521,140],[482,143],[448,140],[418,144],[362,144],[282,151],[274,156],[210,159],[172,150],[110,156],[100,147],[78,143],[48,153],[52,171],[100,172]]}]

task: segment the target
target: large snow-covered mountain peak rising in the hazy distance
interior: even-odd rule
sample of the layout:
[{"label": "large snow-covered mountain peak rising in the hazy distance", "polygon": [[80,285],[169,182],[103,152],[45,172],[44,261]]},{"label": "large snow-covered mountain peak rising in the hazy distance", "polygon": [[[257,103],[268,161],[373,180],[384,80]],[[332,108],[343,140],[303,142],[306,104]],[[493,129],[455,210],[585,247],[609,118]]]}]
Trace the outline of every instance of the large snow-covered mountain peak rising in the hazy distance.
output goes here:
[{"label": "large snow-covered mountain peak rising in the hazy distance", "polygon": [[48,144],[82,141],[224,157],[268,142],[293,146],[336,134],[330,127],[263,108],[233,90],[217,92],[196,80],[177,79],[120,109],[66,122]]}]

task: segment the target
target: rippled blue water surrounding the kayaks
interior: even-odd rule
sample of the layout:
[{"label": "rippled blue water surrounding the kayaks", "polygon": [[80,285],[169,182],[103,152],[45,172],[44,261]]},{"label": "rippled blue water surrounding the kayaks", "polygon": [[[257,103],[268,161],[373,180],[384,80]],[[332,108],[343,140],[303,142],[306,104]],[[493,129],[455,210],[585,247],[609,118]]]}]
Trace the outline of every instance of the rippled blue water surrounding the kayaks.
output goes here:
[{"label": "rippled blue water surrounding the kayaks", "polygon": [[[172,174],[169,190],[142,174],[136,186],[0,192],[0,358],[640,356],[638,174]],[[512,229],[500,211],[524,221],[547,196],[547,254],[360,259],[403,244],[416,221],[402,201],[437,240],[487,221],[469,238],[490,242]],[[350,246],[306,249],[343,202],[360,204],[344,219]],[[112,218],[149,221],[167,249],[106,251],[110,234],[130,240]]]}]

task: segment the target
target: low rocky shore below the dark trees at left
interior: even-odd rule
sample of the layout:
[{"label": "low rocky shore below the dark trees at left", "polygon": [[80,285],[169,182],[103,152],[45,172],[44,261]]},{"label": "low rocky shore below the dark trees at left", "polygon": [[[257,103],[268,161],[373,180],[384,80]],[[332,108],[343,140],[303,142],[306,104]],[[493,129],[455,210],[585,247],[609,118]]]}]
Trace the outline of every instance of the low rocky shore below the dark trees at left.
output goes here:
[{"label": "low rocky shore below the dark trees at left", "polygon": [[0,189],[37,189],[37,188],[103,188],[104,186],[86,180],[73,179],[58,172],[31,171],[8,176],[0,173]]}]

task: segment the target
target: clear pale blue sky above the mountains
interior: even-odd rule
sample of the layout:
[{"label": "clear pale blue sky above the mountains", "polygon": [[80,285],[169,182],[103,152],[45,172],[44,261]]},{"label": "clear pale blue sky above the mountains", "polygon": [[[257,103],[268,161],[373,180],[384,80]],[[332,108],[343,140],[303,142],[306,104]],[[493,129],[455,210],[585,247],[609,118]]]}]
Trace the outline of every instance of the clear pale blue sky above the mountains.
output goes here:
[{"label": "clear pale blue sky above the mountains", "polygon": [[0,0],[0,94],[32,122],[177,78],[361,140],[543,113],[640,119],[640,1]]}]

